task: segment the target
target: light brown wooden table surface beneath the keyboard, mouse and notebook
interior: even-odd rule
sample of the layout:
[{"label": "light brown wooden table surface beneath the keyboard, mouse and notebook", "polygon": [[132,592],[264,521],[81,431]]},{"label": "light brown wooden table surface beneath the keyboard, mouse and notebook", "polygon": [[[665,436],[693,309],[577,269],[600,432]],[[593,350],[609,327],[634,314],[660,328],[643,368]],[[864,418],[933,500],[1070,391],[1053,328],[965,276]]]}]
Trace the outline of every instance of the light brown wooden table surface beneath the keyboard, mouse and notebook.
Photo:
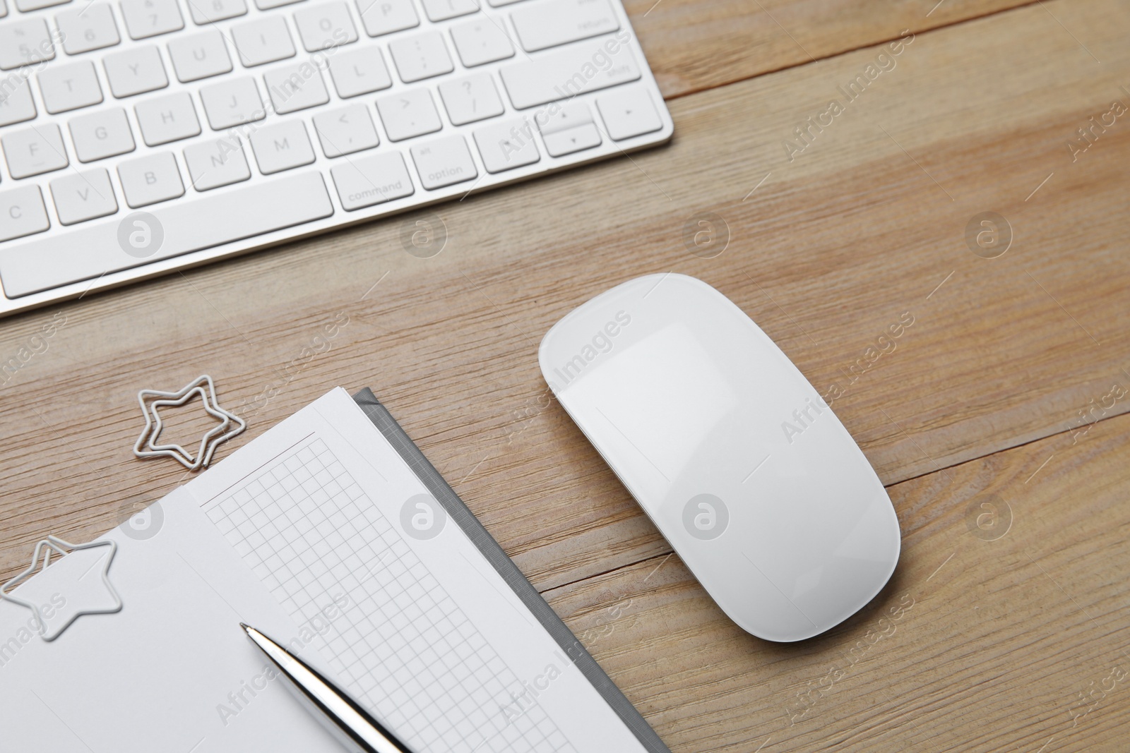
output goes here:
[{"label": "light brown wooden table surface beneath the keyboard, mouse and notebook", "polygon": [[[433,259],[421,211],[0,322],[5,359],[56,325],[0,388],[3,572],[184,480],[130,454],[139,388],[210,373],[242,444],[371,386],[672,751],[1127,750],[1130,6],[628,8],[669,146],[428,210]],[[729,622],[547,399],[542,333],[667,271],[835,385],[888,487],[898,569],[823,637]]]}]

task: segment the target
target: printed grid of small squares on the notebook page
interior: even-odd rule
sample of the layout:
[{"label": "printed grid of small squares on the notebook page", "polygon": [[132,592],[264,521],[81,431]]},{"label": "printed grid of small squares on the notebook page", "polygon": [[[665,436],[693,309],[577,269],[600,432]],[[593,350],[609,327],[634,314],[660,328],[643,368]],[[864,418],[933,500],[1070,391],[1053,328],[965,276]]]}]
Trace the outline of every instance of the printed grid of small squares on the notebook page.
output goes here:
[{"label": "printed grid of small squares on the notebook page", "polygon": [[316,436],[206,513],[295,622],[324,620],[328,603],[348,599],[314,643],[414,750],[575,753]]}]

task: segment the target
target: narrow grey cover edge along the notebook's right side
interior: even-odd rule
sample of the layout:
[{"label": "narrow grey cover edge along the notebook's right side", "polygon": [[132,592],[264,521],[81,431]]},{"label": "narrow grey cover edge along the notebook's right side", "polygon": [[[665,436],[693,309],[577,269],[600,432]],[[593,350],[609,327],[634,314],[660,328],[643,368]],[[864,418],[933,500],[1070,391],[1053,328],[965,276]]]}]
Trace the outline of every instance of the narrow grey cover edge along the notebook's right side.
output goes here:
[{"label": "narrow grey cover edge along the notebook's right side", "polygon": [[468,509],[463,500],[459,498],[459,494],[447,485],[447,482],[443,480],[440,472],[424,457],[424,453],[405,434],[405,430],[400,428],[400,424],[392,418],[388,409],[381,404],[376,395],[373,394],[373,391],[366,387],[354,395],[353,399],[360,406],[362,411],[365,412],[365,415],[384,435],[389,444],[408,463],[408,467],[424,482],[428,492],[443,505],[447,515],[463,529],[463,533],[471,540],[471,543],[483,552],[483,555],[492,567],[498,571],[503,580],[518,594],[518,597],[533,613],[538,622],[549,631],[549,634],[557,641],[557,645],[565,651],[570,660],[576,664],[581,673],[592,683],[592,686],[603,697],[605,701],[612,707],[612,710],[624,720],[624,724],[627,725],[628,729],[632,730],[649,753],[671,753],[667,745],[663,744],[663,741],[659,738],[659,735],[655,734],[655,730],[651,728],[636,708],[632,706],[632,702],[620,692],[620,689],[616,686],[605,671],[600,668],[600,665],[597,664],[597,660],[581,645],[576,636],[573,634],[565,623],[562,622],[560,618],[557,616],[557,613],[546,603],[546,599],[541,597],[538,589],[525,579],[525,576],[518,569],[518,566],[506,557],[506,552],[494,540],[494,536],[487,533],[487,529],[483,527],[479,519]]}]

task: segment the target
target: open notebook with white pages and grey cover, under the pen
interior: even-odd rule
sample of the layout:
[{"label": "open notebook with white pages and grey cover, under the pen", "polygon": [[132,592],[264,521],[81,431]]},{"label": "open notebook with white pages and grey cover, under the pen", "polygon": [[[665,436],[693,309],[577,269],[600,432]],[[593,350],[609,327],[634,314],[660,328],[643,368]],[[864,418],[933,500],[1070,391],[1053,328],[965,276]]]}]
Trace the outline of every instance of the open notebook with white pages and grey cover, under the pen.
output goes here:
[{"label": "open notebook with white pages and grey cover, under the pen", "polygon": [[417,753],[668,751],[367,389],[42,550],[0,601],[12,750],[341,750],[243,621]]}]

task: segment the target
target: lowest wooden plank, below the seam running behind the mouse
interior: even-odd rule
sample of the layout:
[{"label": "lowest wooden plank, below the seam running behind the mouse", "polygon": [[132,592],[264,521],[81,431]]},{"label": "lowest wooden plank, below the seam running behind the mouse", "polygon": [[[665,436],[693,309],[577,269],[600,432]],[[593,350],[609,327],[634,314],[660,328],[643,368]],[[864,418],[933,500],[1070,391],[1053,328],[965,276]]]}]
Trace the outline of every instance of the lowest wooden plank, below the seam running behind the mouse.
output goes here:
[{"label": "lowest wooden plank, below the seam running behind the mouse", "polygon": [[898,569],[807,641],[742,632],[677,557],[546,596],[679,753],[1122,751],[1130,417],[1064,443],[889,488]]}]

